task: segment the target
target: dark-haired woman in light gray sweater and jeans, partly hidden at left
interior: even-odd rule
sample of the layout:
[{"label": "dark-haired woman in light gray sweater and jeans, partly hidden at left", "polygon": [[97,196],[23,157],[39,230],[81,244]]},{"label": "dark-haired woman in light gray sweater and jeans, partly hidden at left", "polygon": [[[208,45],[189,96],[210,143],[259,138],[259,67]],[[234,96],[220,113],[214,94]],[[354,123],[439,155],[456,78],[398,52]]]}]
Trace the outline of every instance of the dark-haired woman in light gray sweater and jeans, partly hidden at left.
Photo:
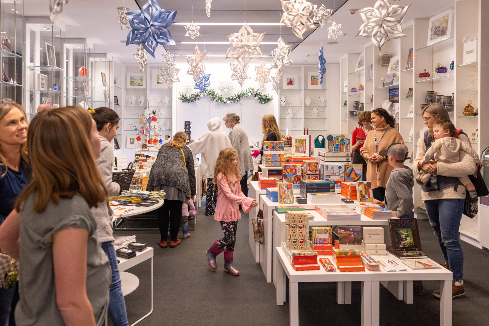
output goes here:
[{"label": "dark-haired woman in light gray sweater and jeans, partly hidden at left", "polygon": [[[120,192],[120,186],[112,182],[112,162],[114,160],[114,147],[111,144],[112,139],[117,136],[119,129],[119,116],[114,110],[101,107],[98,109],[89,109],[92,118],[97,124],[97,130],[100,137],[100,157],[97,159],[97,168],[102,180],[107,188],[108,196],[115,196]],[[109,257],[112,269],[112,281],[109,292],[109,316],[111,316],[114,326],[128,326],[126,303],[122,295],[121,278],[115,248],[112,243],[112,210],[109,206],[109,200],[106,204],[99,204],[98,207],[91,208],[93,218],[97,222],[97,237],[102,243],[102,249]]]}]

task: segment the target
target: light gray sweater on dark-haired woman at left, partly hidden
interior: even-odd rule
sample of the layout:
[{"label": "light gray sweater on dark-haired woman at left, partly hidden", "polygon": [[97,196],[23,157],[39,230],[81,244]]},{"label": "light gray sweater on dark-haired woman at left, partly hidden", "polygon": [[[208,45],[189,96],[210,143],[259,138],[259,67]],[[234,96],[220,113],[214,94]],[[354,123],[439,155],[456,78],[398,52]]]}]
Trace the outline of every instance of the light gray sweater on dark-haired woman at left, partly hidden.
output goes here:
[{"label": "light gray sweater on dark-haired woman at left, partly hidden", "polygon": [[[97,168],[102,181],[107,188],[108,196],[115,196],[120,192],[120,186],[112,182],[112,163],[114,161],[114,146],[105,137],[100,137],[100,157],[97,159]],[[92,207],[91,213],[97,222],[97,237],[100,242],[113,241],[112,236],[112,210],[107,202]]]}]

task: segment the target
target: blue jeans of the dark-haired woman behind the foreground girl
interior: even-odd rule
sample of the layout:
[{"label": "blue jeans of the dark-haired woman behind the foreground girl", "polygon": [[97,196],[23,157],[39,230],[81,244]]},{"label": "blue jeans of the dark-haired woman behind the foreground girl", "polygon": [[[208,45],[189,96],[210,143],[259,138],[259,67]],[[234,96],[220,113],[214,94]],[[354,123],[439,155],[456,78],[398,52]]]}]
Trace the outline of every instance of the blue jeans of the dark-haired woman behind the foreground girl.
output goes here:
[{"label": "blue jeans of the dark-haired woman behind the foreground girl", "polygon": [[112,268],[112,282],[109,291],[109,316],[114,326],[129,326],[126,313],[126,302],[122,295],[121,278],[117,266],[117,256],[112,241],[102,242],[102,249],[109,257]]}]

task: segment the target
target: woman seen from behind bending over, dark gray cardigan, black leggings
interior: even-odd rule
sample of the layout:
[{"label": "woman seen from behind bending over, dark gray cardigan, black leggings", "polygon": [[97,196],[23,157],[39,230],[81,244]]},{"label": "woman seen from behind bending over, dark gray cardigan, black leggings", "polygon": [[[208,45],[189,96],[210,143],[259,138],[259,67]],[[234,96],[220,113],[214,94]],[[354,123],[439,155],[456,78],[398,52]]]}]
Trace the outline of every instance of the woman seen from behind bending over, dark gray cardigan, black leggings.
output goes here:
[{"label": "woman seen from behind bending over, dark gray cardigan, black leggings", "polygon": [[178,229],[182,219],[182,205],[188,199],[195,201],[195,168],[192,151],[185,145],[187,134],[178,131],[173,139],[162,145],[151,168],[147,191],[165,191],[163,206],[158,208],[161,248],[168,246],[168,222],[170,222],[170,248],[180,244]]}]

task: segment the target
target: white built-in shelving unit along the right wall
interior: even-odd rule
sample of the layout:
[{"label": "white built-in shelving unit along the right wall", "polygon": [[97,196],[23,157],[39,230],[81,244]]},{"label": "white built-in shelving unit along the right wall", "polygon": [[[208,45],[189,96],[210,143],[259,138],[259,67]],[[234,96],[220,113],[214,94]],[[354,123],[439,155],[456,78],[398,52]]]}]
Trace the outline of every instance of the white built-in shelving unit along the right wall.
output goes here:
[{"label": "white built-in shelving unit along the right wall", "polygon": [[[483,0],[460,0],[455,2],[453,8],[453,37],[431,45],[427,44],[429,19],[415,19],[403,23],[403,33],[407,36],[404,38],[389,40],[382,46],[381,51],[372,43],[367,43],[365,51],[365,71],[355,72],[355,65],[358,59],[358,53],[345,54],[340,59],[340,96],[341,116],[338,119],[342,133],[351,133],[357,126],[357,118],[348,117],[348,111],[353,109],[353,101],[358,100],[365,104],[365,110],[380,108],[382,103],[389,96],[389,88],[399,87],[400,110],[399,116],[396,116],[398,128],[409,149],[412,159],[407,163],[412,167],[412,161],[416,156],[417,142],[420,132],[425,125],[421,116],[421,105],[426,104],[426,92],[434,91],[435,95],[451,96],[454,93],[453,110],[448,111],[448,116],[454,122],[457,129],[463,129],[471,139],[472,148],[480,155],[484,149],[489,146],[489,135],[481,131],[484,128],[483,119],[486,110],[481,103],[488,102],[489,94],[479,92],[481,85],[485,85],[484,67],[486,63],[479,61],[464,63],[462,39],[467,35],[483,35],[487,28],[481,24],[481,15],[485,8],[489,7],[488,3]],[[440,12],[445,11],[440,10]],[[475,15],[474,15],[475,13]],[[489,41],[488,41],[489,42]],[[481,46],[481,37],[477,41],[478,58],[483,51]],[[413,48],[412,69],[407,68],[407,59],[409,49]],[[400,76],[399,81],[394,80],[392,86],[384,87],[382,85],[385,78],[387,66],[380,65],[380,52],[389,52],[390,56],[400,56]],[[449,68],[450,63],[454,61],[454,69]],[[435,67],[438,63],[447,67],[446,73],[436,73]],[[370,65],[374,65],[373,79],[370,80]],[[429,77],[421,78],[419,74],[426,69],[430,73]],[[470,75],[475,75],[471,77]],[[474,79],[475,78],[475,79]],[[347,82],[347,88],[344,89],[344,82]],[[365,87],[363,94],[361,91],[353,94],[351,88],[358,88],[362,83]],[[475,85],[474,85],[475,83]],[[408,95],[409,88],[413,88],[413,95]],[[371,97],[374,95],[374,101],[371,103]],[[347,105],[343,106],[345,99]],[[464,108],[468,101],[472,101],[472,107],[479,109],[476,116],[465,116]],[[433,101],[436,101],[434,99]],[[408,117],[409,108],[413,105],[414,114]],[[409,139],[409,134],[412,137]],[[484,130],[484,129],[483,129]],[[472,135],[474,133],[474,135]],[[415,184],[413,189],[415,213],[418,218],[427,218],[424,203],[421,200],[421,187]],[[482,214],[489,214],[489,207],[479,204],[478,216],[470,219],[462,217],[460,225],[460,239],[463,239],[478,247],[489,246],[489,223],[480,219]]]}]

